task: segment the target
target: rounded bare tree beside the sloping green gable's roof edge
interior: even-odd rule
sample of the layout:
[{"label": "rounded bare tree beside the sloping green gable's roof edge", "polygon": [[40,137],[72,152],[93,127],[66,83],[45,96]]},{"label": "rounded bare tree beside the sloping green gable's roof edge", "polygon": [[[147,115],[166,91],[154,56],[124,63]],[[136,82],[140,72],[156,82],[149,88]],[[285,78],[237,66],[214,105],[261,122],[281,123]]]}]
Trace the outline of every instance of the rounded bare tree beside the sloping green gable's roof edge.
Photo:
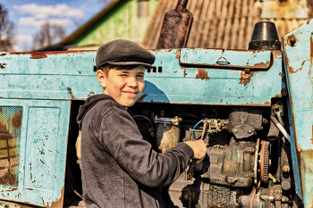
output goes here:
[{"label": "rounded bare tree beside the sloping green gable's roof edge", "polygon": [[65,37],[65,30],[62,26],[45,22],[34,36],[33,48],[40,48],[45,46],[52,46],[57,41]]}]

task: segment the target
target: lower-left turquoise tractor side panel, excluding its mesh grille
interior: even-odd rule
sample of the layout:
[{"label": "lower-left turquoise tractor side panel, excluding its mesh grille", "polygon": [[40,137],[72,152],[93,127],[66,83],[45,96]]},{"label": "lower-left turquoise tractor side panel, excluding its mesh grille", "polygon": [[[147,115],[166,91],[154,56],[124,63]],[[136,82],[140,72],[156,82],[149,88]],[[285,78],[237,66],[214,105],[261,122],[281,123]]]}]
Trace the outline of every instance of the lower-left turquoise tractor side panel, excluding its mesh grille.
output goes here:
[{"label": "lower-left turquoise tractor side panel, excluding its mesh grille", "polygon": [[18,185],[0,186],[0,199],[62,206],[71,102],[0,99],[4,105],[21,106],[23,119]]}]

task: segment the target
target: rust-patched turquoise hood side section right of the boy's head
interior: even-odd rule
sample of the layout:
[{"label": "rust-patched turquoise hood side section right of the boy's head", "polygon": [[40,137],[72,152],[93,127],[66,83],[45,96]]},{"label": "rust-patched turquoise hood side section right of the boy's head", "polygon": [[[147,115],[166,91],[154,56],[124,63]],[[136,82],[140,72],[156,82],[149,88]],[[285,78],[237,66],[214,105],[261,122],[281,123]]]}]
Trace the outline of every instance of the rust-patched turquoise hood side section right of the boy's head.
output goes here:
[{"label": "rust-patched turquoise hood side section right of the boy's head", "polygon": [[[187,52],[189,49],[183,48],[182,51]],[[269,106],[271,98],[282,96],[285,87],[282,82],[282,54],[279,51],[273,51],[272,54],[266,52],[266,58],[254,61],[270,61],[268,69],[251,68],[250,73],[246,73],[244,67],[182,65],[180,49],[151,52],[157,57],[154,63],[156,68],[148,70],[145,75],[146,87],[140,102]],[[197,49],[197,53],[203,55],[202,60],[210,59],[210,55],[221,55],[220,51],[214,49]],[[241,54],[244,56],[250,53],[241,51],[230,56],[232,60],[235,58],[236,62],[240,62]],[[269,57],[272,58],[268,60]],[[246,64],[245,61],[242,61],[241,66]]]}]

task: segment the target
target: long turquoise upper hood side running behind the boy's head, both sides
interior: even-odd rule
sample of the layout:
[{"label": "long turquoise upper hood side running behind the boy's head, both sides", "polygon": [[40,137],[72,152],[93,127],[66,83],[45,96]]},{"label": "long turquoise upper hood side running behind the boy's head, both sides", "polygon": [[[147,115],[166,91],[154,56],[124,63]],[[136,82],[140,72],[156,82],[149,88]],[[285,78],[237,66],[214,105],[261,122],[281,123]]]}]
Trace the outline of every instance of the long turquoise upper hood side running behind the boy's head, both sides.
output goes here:
[{"label": "long turquoise upper hood side running behind the boy's head, both sides", "polygon": [[[182,66],[180,58],[185,55],[181,55],[180,49],[151,52],[156,55],[157,71],[147,71],[140,102],[269,106],[272,97],[281,96],[280,52],[182,49],[188,57],[200,54],[200,62],[220,57],[221,53],[230,57],[231,65],[207,68],[192,65],[197,61],[193,59],[188,67]],[[71,100],[101,94],[102,87],[93,71],[95,55],[95,52],[2,55],[0,98]],[[267,65],[268,69],[260,70]],[[244,73],[247,66],[251,66],[250,74]]]}]

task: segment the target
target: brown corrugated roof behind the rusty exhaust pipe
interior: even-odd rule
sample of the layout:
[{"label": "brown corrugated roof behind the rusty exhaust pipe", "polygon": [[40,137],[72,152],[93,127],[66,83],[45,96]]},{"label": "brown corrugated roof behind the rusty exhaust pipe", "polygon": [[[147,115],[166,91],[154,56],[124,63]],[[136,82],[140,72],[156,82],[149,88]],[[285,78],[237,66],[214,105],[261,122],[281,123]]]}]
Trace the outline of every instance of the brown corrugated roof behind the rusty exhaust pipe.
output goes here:
[{"label": "brown corrugated roof behind the rusty exhaust pipe", "polygon": [[[176,7],[178,0],[159,0],[143,46],[157,47],[165,12]],[[313,0],[307,0],[309,18],[312,18]],[[255,23],[275,22],[282,37],[304,23],[305,19],[261,19],[262,3],[253,0],[189,0],[187,9],[193,14],[193,23],[187,47],[247,49]]]}]

